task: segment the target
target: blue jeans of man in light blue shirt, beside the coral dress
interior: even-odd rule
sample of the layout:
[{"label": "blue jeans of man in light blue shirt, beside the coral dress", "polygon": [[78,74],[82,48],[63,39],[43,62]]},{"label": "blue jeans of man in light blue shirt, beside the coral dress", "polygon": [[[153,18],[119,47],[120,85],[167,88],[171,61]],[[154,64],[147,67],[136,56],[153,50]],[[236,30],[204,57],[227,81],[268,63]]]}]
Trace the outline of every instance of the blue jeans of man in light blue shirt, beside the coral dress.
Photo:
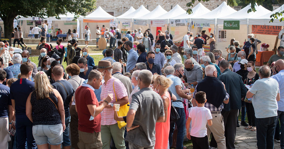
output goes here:
[{"label": "blue jeans of man in light blue shirt, beside the coral dress", "polygon": [[[176,110],[178,112],[178,115],[180,119],[176,121],[176,125],[178,128],[178,134],[177,134],[177,145],[176,149],[183,149],[183,136],[184,136],[184,129],[185,129],[185,112],[184,108],[177,108]],[[173,133],[174,133],[175,123],[170,124],[170,135],[169,135],[169,144],[170,147],[173,144]]]}]

